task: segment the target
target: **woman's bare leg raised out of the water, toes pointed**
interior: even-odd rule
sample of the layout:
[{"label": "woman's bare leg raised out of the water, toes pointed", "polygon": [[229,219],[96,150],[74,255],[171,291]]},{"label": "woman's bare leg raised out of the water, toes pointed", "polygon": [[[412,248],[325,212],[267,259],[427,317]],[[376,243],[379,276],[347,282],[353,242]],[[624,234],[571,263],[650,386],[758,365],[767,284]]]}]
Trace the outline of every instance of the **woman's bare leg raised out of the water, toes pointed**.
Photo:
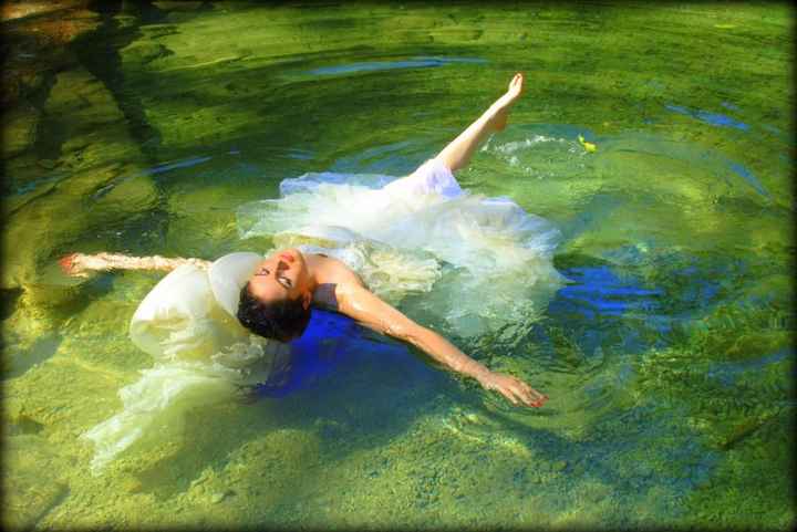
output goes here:
[{"label": "woman's bare leg raised out of the water, toes pointed", "polygon": [[506,127],[509,109],[515,101],[520,97],[522,90],[524,76],[517,73],[509,82],[506,94],[496,100],[476,122],[470,124],[443,152],[437,154],[436,158],[442,160],[452,171],[466,167],[470,156],[476,152],[484,137]]}]

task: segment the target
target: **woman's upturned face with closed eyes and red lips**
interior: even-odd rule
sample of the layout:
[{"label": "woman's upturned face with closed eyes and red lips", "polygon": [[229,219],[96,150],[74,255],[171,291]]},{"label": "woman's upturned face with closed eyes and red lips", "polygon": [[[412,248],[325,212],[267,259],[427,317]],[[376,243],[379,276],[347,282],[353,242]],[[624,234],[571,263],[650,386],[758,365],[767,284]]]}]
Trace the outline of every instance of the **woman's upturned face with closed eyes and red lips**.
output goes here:
[{"label": "woman's upturned face with closed eyes and red lips", "polygon": [[249,278],[249,292],[263,303],[294,300],[310,293],[310,273],[304,257],[298,249],[275,251]]}]

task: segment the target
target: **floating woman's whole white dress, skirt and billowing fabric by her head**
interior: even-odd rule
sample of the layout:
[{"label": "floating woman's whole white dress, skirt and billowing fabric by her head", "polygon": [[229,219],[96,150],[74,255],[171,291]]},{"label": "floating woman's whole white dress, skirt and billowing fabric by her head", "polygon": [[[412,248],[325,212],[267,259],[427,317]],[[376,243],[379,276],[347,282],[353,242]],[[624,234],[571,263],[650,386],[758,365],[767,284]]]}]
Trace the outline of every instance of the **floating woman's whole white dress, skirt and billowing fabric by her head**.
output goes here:
[{"label": "floating woman's whole white dress, skirt and billowing fabric by her head", "polygon": [[[437,159],[400,179],[306,174],[280,191],[240,207],[244,240],[266,236],[277,249],[335,257],[392,304],[425,293],[424,309],[459,336],[535,320],[562,282],[551,262],[556,228],[508,198],[464,191]],[[95,445],[95,472],[165,428],[178,432],[187,410],[265,382],[289,355],[235,317],[261,259],[239,252],[207,271],[182,265],[142,301],[130,334],[155,365],[120,390],[121,413],[84,434]]]}]

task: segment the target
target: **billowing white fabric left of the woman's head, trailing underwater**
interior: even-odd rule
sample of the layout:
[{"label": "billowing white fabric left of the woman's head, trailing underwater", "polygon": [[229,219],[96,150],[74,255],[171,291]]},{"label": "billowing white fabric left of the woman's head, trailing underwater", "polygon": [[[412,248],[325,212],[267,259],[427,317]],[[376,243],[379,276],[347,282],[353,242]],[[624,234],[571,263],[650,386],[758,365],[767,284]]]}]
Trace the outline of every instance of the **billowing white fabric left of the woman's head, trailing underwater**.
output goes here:
[{"label": "billowing white fabric left of the woman's head, trailing underwater", "polygon": [[256,253],[232,253],[209,272],[182,265],[142,301],[130,335],[155,365],[120,390],[121,413],[83,435],[94,442],[95,473],[137,441],[179,436],[188,410],[228,400],[240,386],[266,380],[287,356],[287,345],[250,334],[230,315],[239,286],[259,260]]}]

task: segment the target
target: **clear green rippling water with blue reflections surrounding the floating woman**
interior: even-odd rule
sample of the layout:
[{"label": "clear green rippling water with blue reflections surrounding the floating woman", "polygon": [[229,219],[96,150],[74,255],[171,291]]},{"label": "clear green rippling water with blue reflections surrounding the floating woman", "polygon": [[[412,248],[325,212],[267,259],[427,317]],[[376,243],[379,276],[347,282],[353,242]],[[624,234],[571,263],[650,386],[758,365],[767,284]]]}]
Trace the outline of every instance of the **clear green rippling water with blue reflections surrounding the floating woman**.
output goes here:
[{"label": "clear green rippling water with blue reflections surrounding the floating woman", "polygon": [[[4,6],[9,524],[793,523],[793,13],[641,7]],[[319,312],[260,400],[89,474],[77,436],[153,365],[127,326],[161,275],[65,282],[58,257],[265,251],[241,206],[406,175],[516,70],[525,100],[457,178],[552,222],[568,281],[452,340],[545,408]],[[402,310],[443,326],[482,294],[443,288]]]}]

